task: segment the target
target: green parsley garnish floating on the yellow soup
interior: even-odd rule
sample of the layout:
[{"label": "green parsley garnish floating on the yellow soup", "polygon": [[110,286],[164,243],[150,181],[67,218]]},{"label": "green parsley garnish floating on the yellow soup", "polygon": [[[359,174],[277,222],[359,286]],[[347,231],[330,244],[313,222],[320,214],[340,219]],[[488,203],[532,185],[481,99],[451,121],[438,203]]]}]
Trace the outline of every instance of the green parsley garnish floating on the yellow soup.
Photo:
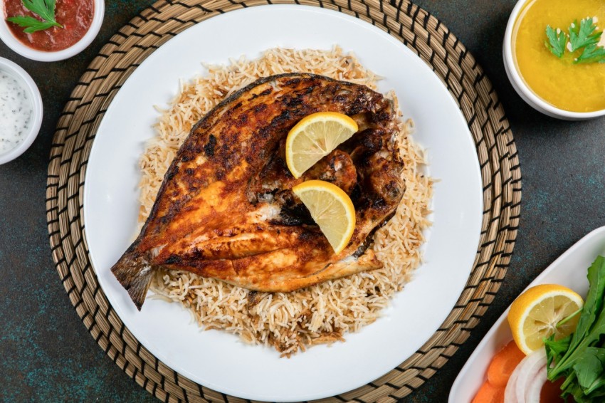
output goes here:
[{"label": "green parsley garnish floating on the yellow soup", "polygon": [[544,45],[558,58],[563,56],[566,49],[570,53],[582,51],[574,58],[574,63],[605,63],[605,48],[599,46],[603,32],[596,29],[596,24],[591,18],[582,19],[579,23],[574,21],[569,26],[569,34],[547,25],[548,41],[544,41]]}]

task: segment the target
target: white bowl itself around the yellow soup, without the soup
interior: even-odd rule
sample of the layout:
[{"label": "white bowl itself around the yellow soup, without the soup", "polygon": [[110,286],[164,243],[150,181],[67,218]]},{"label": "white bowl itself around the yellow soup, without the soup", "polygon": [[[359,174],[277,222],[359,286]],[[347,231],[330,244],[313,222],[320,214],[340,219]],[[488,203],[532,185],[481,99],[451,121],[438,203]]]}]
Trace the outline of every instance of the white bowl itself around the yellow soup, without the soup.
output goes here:
[{"label": "white bowl itself around the yellow soup, without the soup", "polygon": [[537,110],[538,112],[544,113],[544,115],[548,115],[550,117],[557,117],[557,119],[562,120],[587,120],[593,119],[594,117],[604,116],[604,110],[596,110],[594,112],[570,112],[569,110],[563,110],[554,107],[553,105],[547,103],[542,98],[538,97],[525,83],[525,80],[521,77],[519,70],[515,66],[515,60],[512,56],[512,31],[515,27],[515,21],[517,21],[517,16],[523,6],[529,0],[519,0],[514,9],[512,9],[512,13],[510,14],[510,18],[508,19],[508,24],[506,26],[506,32],[504,34],[504,43],[503,43],[503,56],[504,56],[504,67],[506,69],[506,74],[508,75],[508,80],[512,84],[512,87],[515,88],[517,94],[523,100],[529,104],[532,108]]}]

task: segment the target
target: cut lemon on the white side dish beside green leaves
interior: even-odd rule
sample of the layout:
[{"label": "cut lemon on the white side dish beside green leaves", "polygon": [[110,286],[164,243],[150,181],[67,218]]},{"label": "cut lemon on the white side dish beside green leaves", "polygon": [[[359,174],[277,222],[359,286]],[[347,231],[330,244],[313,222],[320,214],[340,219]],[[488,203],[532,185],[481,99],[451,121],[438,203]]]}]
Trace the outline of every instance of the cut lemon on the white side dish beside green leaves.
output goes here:
[{"label": "cut lemon on the white side dish beside green leaves", "polygon": [[508,324],[512,338],[525,354],[544,346],[545,337],[559,340],[574,333],[580,315],[557,323],[582,308],[584,300],[564,286],[542,284],[529,288],[510,305]]}]

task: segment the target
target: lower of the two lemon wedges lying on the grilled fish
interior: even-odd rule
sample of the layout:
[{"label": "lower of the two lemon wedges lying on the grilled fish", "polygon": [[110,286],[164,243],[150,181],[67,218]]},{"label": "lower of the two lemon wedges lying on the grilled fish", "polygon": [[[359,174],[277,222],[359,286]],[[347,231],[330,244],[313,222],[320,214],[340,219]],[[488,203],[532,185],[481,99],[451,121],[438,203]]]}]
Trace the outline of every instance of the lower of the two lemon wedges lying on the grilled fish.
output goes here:
[{"label": "lower of the two lemon wedges lying on the grilled fish", "polygon": [[334,253],[342,252],[355,230],[355,208],[350,197],[335,184],[319,180],[302,182],[292,191],[307,206]]}]

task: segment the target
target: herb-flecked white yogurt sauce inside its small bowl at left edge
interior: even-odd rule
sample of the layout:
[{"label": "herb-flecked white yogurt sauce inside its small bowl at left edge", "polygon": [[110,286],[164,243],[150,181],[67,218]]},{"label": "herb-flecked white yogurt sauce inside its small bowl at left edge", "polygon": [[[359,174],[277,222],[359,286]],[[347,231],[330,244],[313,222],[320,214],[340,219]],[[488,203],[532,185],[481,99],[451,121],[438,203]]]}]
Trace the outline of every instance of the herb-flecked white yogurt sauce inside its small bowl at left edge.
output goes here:
[{"label": "herb-flecked white yogurt sauce inside its small bowl at left edge", "polygon": [[25,139],[32,115],[26,87],[0,69],[0,155],[13,150]]}]

